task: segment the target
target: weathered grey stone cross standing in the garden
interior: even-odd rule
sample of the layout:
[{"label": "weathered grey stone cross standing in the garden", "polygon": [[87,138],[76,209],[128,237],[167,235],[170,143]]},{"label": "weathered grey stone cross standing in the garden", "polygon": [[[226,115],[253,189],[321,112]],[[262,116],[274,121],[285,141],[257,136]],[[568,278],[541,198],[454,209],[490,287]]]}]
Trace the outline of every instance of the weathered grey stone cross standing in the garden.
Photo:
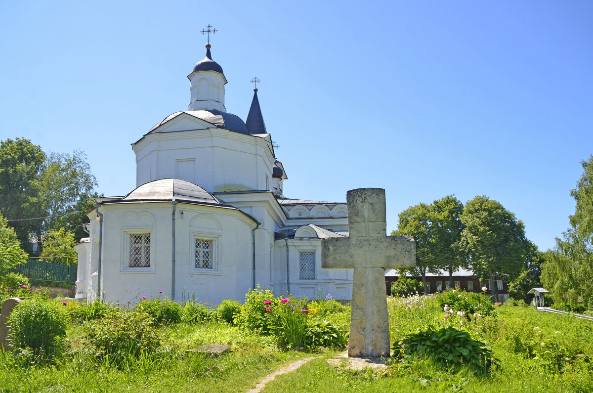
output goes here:
[{"label": "weathered grey stone cross standing in the garden", "polygon": [[416,264],[411,236],[387,236],[385,190],[347,192],[349,237],[321,240],[321,267],[354,268],[348,356],[390,356],[385,268]]}]

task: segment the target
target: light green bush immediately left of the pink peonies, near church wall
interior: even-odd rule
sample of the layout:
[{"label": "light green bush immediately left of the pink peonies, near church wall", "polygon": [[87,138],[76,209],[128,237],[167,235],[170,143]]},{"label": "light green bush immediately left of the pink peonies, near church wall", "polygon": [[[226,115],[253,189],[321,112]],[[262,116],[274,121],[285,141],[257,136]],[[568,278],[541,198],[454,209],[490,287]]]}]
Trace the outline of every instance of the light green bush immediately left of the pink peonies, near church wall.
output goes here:
[{"label": "light green bush immediately left of the pink peonies, near church wall", "polygon": [[253,331],[269,333],[272,325],[266,309],[270,306],[264,304],[268,301],[269,305],[277,302],[269,289],[261,289],[257,284],[256,289],[249,290],[245,295],[245,304],[241,308],[240,315],[235,318],[235,323]]}]

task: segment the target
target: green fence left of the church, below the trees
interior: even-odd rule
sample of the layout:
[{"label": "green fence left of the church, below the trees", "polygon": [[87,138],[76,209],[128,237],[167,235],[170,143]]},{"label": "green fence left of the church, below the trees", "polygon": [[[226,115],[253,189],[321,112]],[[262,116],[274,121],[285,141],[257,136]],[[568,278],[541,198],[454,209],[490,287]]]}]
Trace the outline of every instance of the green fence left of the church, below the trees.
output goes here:
[{"label": "green fence left of the church, below the trees", "polygon": [[71,287],[76,281],[76,266],[54,264],[36,259],[29,259],[26,264],[17,265],[10,271],[27,276],[31,285]]}]

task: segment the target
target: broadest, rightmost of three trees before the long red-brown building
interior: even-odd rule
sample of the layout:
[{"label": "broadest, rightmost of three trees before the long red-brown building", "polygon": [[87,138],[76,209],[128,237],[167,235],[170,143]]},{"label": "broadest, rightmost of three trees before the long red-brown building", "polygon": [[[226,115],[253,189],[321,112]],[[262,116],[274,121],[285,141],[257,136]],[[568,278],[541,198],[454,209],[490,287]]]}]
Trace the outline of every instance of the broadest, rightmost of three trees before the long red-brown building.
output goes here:
[{"label": "broadest, rightmost of three trees before the long red-brown building", "polygon": [[461,214],[464,229],[458,250],[479,277],[490,280],[498,302],[497,277],[517,277],[525,268],[529,243],[525,227],[515,214],[487,196],[468,201]]}]

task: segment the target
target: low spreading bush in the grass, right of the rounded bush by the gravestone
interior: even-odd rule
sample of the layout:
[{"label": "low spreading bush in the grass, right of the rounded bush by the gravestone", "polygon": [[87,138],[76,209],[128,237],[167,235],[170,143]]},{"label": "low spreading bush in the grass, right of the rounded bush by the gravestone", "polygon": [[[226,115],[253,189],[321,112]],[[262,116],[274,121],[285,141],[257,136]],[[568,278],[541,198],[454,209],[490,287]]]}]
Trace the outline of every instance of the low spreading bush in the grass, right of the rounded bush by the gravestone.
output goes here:
[{"label": "low spreading bush in the grass, right of the rounded bush by the gravestone", "polygon": [[94,359],[108,357],[116,365],[129,357],[155,353],[164,336],[148,313],[117,307],[107,309],[102,319],[87,322],[81,330]]}]

